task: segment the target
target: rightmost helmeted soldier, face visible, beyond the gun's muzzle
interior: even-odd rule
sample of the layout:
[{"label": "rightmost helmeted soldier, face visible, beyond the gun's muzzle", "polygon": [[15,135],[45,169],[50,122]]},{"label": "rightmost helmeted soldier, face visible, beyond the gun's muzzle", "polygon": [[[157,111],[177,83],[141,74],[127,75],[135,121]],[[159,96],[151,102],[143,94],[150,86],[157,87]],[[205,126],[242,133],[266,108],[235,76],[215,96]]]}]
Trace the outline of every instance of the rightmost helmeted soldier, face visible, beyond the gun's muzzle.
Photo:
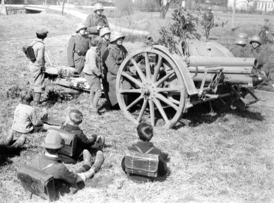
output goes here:
[{"label": "rightmost helmeted soldier, face visible, beyond the gun's muzzle", "polygon": [[256,58],[258,60],[258,68],[253,69],[253,72],[260,72],[262,71],[262,75],[269,75],[269,69],[270,69],[270,64],[269,64],[269,56],[266,53],[264,49],[262,49],[262,40],[260,36],[258,35],[253,35],[251,37],[251,40],[249,42],[251,44],[251,49],[249,49],[248,56],[250,58]]}]

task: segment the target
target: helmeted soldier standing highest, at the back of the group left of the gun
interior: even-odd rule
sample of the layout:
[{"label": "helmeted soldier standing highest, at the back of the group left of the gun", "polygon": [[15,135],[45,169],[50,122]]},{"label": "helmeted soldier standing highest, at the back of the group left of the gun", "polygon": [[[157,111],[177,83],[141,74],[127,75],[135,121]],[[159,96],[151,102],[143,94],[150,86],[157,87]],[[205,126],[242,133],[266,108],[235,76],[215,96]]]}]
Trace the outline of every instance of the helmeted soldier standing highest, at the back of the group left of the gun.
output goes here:
[{"label": "helmeted soldier standing highest, at the back of the group left of the gun", "polygon": [[108,19],[103,12],[103,4],[95,3],[93,13],[86,17],[86,27],[89,34],[99,36],[99,31],[102,27],[110,27]]}]

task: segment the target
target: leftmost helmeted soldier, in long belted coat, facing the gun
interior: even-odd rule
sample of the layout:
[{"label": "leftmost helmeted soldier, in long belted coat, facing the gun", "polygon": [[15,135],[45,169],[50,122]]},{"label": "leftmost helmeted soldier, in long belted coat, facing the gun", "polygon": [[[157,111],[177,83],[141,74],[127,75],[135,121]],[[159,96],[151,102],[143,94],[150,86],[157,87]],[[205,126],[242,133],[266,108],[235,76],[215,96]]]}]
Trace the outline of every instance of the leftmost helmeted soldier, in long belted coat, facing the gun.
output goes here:
[{"label": "leftmost helmeted soldier, in long belted coat, facing the gun", "polygon": [[83,72],[86,62],[86,52],[90,48],[90,38],[85,34],[86,25],[79,23],[76,28],[76,34],[69,39],[67,49],[69,67],[75,67],[75,72],[81,77],[85,77]]}]

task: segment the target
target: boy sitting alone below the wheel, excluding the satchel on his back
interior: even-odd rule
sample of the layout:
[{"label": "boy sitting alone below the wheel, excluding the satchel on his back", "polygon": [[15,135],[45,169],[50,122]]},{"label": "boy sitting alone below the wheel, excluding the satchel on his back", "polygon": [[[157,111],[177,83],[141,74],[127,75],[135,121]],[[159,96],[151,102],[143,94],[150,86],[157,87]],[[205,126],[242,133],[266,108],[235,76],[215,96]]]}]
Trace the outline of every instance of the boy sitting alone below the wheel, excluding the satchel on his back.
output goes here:
[{"label": "boy sitting alone below the wheel, excluding the satchel on his back", "polygon": [[[154,147],[151,143],[151,138],[153,136],[153,127],[149,123],[140,123],[137,126],[137,137],[138,142],[131,147],[128,147],[128,150],[133,150],[136,152],[142,152],[143,154],[157,154],[159,155],[159,164],[158,164],[158,176],[165,176],[168,169],[166,167],[166,159],[169,156],[168,153],[162,152],[160,149]],[[125,171],[125,157],[122,160],[122,169]],[[135,180],[136,182],[148,182],[153,181],[155,178],[142,176],[138,174],[128,174],[129,179]]]}]

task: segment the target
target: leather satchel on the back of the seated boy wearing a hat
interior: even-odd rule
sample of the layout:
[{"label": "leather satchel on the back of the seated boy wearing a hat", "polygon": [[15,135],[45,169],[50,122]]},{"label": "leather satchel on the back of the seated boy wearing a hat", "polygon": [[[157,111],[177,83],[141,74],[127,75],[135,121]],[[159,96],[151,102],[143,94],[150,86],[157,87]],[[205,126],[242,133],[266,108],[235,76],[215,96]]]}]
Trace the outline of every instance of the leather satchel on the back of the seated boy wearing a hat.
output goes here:
[{"label": "leather satchel on the back of the seated boy wearing a hat", "polygon": [[17,178],[21,180],[23,188],[32,194],[36,194],[41,198],[49,200],[55,199],[55,185],[52,175],[46,174],[43,170],[51,167],[53,164],[47,165],[42,171],[35,169],[29,165],[23,165],[17,171]]}]

